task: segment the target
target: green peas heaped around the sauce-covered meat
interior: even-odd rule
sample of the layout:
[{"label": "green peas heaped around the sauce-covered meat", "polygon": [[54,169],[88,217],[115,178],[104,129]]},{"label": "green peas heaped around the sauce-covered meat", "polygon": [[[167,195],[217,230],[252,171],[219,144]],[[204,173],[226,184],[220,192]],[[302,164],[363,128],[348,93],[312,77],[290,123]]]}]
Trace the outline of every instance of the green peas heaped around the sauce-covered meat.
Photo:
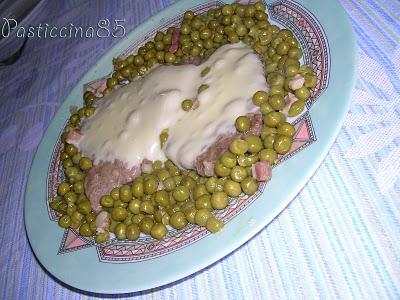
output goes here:
[{"label": "green peas heaped around the sauce-covered meat", "polygon": [[[51,208],[60,215],[58,223],[61,227],[79,228],[81,235],[95,236],[97,243],[108,240],[110,232],[119,240],[137,240],[140,233],[161,240],[168,233],[167,226],[181,230],[187,224],[217,232],[223,222],[212,212],[225,209],[229,197],[242,193],[252,195],[257,191],[258,182],[252,177],[251,166],[258,161],[273,165],[279,155],[290,150],[295,128],[286,122],[283,113],[285,97],[292,93],[298,99],[287,113],[289,117],[296,116],[304,110],[310,90],[317,83],[312,69],[300,64],[302,51],[292,32],[271,25],[261,2],[226,4],[203,15],[187,11],[178,29],[179,46],[174,53],[169,51],[175,30],[170,27],[165,32],[157,32],[136,55],[113,59],[114,71],[106,81],[102,96],[126,81],[145,75],[155,64],[183,64],[205,59],[225,44],[242,41],[252,46],[264,63],[270,86],[268,92],[258,91],[252,98],[263,114],[261,134],[246,134],[234,139],[229,150],[216,162],[213,177],[181,170],[170,160],[154,162],[150,173],[142,174],[131,184],[115,188],[101,198],[102,209],[110,214],[111,222],[105,232],[96,233],[96,215],[83,188],[85,174],[92,162],[66,142],[68,132],[79,129],[81,121],[93,115],[96,102],[102,97],[86,91],[83,95],[85,106],[71,115],[61,136],[64,151],[60,159],[66,181],[58,186],[59,198],[50,202]],[[206,68],[201,75],[207,72],[209,69]],[[305,83],[293,91],[289,82],[296,75],[301,75]],[[198,92],[207,88],[200,86]],[[182,101],[183,110],[190,110],[192,105],[190,99]],[[246,133],[251,120],[248,116],[239,116],[235,126],[239,132]],[[167,138],[168,130],[165,129],[160,134],[161,147]]]}]

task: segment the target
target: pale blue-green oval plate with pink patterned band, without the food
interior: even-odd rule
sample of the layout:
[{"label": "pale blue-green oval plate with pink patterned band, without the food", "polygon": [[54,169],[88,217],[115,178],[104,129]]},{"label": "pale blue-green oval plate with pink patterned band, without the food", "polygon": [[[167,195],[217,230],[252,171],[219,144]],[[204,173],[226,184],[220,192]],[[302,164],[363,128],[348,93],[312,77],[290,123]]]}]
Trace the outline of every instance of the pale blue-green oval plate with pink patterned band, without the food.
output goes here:
[{"label": "pale blue-green oval plate with pink patterned band, without the food", "polygon": [[[165,241],[142,237],[137,242],[111,240],[100,246],[75,230],[62,230],[48,207],[62,179],[57,156],[59,136],[71,105],[81,106],[82,88],[96,88],[112,70],[112,58],[138,45],[179,20],[188,9],[196,12],[219,1],[180,1],[126,36],[96,63],[61,106],[33,161],[25,193],[25,225],[30,244],[42,265],[75,288],[96,293],[127,293],[154,288],[188,276],[229,254],[271,222],[303,188],[334,142],[348,111],[355,83],[355,39],[336,1],[304,0],[269,3],[271,22],[291,29],[299,39],[305,63],[318,75],[307,110],[294,122],[293,152],[274,168],[273,178],[259,193],[231,203],[220,214],[225,227],[218,234],[189,226],[172,231]],[[128,49],[128,50],[126,50]],[[123,52],[125,51],[125,52]],[[318,101],[316,101],[318,100]],[[287,159],[295,154],[295,157]]]}]

